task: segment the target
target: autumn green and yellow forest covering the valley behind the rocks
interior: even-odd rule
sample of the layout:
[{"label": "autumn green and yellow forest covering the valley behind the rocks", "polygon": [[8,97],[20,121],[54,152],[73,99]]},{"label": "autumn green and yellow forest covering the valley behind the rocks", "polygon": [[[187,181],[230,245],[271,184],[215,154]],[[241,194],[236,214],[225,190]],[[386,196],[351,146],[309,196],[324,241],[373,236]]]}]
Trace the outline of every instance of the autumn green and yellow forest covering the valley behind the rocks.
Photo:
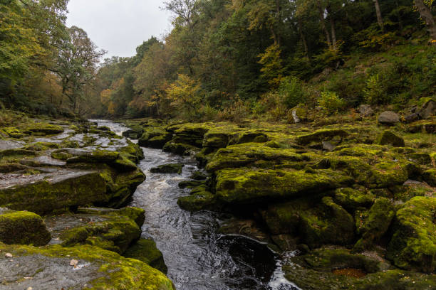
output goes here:
[{"label": "autumn green and yellow forest covering the valley behind the rocks", "polygon": [[[106,58],[68,0],[2,0],[0,106],[49,115],[286,122],[435,93],[432,0],[171,0],[172,31]],[[41,21],[42,19],[42,21]]]}]

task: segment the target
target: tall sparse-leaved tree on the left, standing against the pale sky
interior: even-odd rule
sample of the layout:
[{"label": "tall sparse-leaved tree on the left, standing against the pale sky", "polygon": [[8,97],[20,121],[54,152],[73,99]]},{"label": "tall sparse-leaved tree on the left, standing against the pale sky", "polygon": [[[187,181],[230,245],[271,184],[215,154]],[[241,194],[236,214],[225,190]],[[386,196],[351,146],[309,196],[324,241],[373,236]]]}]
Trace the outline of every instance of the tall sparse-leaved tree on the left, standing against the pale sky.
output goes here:
[{"label": "tall sparse-leaved tree on the left, standing against the pale sky", "polygon": [[83,88],[95,77],[96,65],[105,51],[97,51],[88,34],[76,26],[68,28],[68,37],[61,45],[56,73],[61,77],[63,95],[70,101],[73,112],[78,113]]}]

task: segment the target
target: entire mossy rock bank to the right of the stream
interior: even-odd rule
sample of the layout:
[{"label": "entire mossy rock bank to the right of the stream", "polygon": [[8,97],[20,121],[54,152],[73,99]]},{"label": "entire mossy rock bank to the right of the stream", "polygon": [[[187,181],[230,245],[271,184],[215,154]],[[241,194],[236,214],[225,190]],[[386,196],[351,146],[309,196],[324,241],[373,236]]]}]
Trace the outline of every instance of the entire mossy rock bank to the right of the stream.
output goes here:
[{"label": "entire mossy rock bank to the right of the stream", "polygon": [[432,289],[432,114],[409,123],[368,114],[323,124],[126,124],[142,146],[204,166],[207,179],[180,183],[182,208],[230,213],[223,234],[298,253],[284,271],[302,289]]}]

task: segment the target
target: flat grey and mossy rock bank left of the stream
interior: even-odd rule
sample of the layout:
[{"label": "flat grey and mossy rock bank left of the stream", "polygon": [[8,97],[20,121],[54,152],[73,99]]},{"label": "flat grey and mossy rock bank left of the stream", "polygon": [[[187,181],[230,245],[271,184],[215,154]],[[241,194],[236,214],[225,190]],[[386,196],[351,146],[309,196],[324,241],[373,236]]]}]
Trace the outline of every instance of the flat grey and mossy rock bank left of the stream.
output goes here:
[{"label": "flat grey and mossy rock bank left of the stream", "polygon": [[[123,208],[145,180],[136,144],[83,120],[0,127],[0,285],[7,289],[174,289]],[[0,286],[1,288],[1,286]]]}]

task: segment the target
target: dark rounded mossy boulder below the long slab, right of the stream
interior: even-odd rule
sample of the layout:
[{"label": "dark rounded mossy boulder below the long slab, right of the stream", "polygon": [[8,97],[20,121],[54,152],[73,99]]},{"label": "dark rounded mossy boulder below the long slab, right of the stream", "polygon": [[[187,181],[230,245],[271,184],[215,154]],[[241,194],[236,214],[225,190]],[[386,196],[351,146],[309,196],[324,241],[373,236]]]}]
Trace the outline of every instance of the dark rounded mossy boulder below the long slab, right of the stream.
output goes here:
[{"label": "dark rounded mossy boulder below the long slab, right of the stream", "polygon": [[316,208],[301,214],[300,234],[311,248],[321,245],[349,245],[353,242],[354,220],[331,197],[324,197]]}]

